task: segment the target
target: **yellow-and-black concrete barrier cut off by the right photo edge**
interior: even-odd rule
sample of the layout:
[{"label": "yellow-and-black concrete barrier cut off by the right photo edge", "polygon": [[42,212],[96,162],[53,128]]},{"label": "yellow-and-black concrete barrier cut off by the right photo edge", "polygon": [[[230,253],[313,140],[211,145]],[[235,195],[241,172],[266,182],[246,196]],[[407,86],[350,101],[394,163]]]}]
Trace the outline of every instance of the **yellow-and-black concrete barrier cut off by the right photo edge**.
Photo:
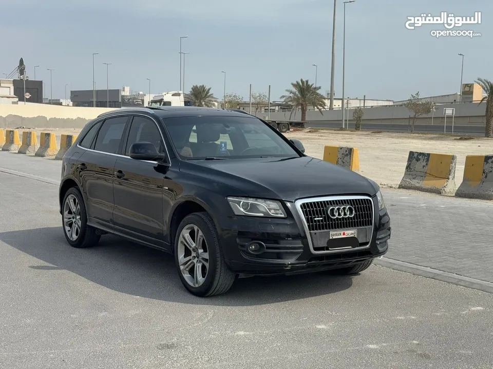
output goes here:
[{"label": "yellow-and-black concrete barrier cut off by the right photo edge", "polygon": [[467,155],[457,197],[493,200],[493,155]]}]

